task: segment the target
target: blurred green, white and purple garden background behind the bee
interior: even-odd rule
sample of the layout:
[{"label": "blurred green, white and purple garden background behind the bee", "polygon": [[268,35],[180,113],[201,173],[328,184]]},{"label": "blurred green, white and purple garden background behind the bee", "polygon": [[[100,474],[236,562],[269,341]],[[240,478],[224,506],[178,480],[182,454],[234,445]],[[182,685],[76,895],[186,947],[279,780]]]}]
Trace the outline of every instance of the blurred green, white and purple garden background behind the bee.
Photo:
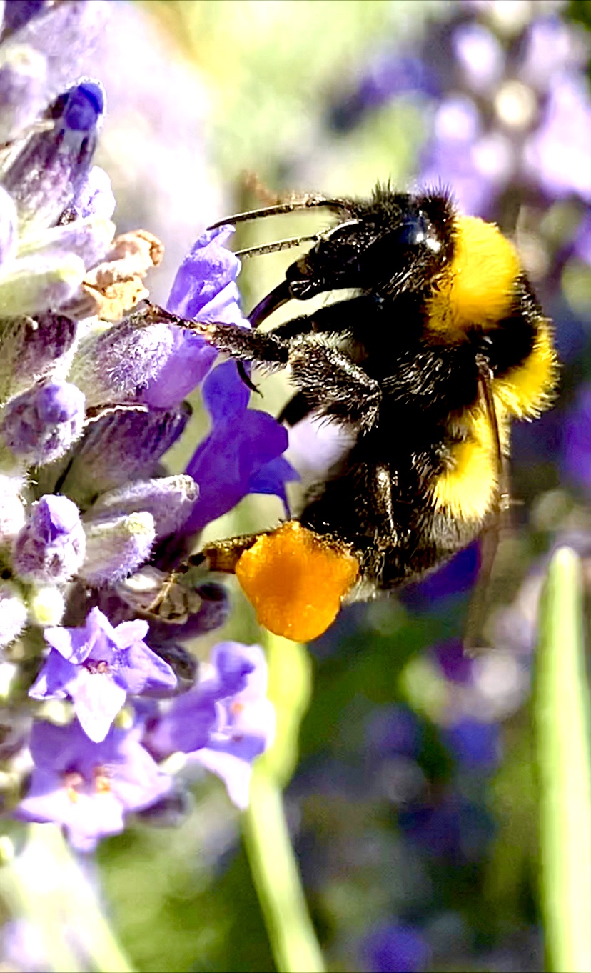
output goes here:
[{"label": "blurred green, white and purple garden background behind the bee", "polygon": [[[591,5],[113,7],[87,65],[109,99],[97,161],[113,180],[120,230],[141,225],[165,244],[156,301],[192,240],[226,213],[294,191],[365,196],[390,179],[400,189],[447,186],[467,211],[499,222],[555,320],[560,398],[515,430],[520,503],[488,594],[490,651],[473,660],[462,652],[474,550],[398,598],[343,611],[309,647],[313,690],[286,791],[331,970],[539,970],[528,713],[537,601],[557,540],[583,558],[591,547]],[[236,245],[313,233],[324,219],[249,224]],[[293,259],[245,263],[245,310]],[[263,408],[276,413],[289,395],[285,378],[257,382]],[[195,407],[197,430],[206,420]],[[319,445],[321,460],[328,449]],[[187,457],[168,458],[180,470]],[[280,516],[276,498],[251,496],[208,535]],[[231,621],[215,640],[257,641],[250,607],[237,589],[232,596]],[[195,651],[205,656],[210,644],[201,639]],[[107,910],[136,967],[273,970],[223,785],[204,776],[188,814],[154,823],[138,822],[98,853]]]}]

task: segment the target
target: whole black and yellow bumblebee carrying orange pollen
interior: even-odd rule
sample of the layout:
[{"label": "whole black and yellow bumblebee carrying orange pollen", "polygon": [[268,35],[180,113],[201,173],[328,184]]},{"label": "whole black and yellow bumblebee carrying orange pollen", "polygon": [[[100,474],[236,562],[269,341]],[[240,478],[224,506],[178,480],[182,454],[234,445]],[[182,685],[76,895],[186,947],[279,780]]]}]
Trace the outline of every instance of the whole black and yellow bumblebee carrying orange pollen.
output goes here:
[{"label": "whole black and yellow bumblebee carrying orange pollen", "polygon": [[[328,628],[343,598],[400,588],[469,545],[508,503],[511,421],[547,409],[557,382],[551,322],[513,243],[449,195],[378,185],[368,199],[296,198],[215,226],[310,207],[332,214],[328,232],[249,251],[313,243],[251,331],[183,322],[247,381],[242,363],[289,367],[288,424],[313,413],[353,434],[292,521],[203,552],[235,571],[262,624],[296,639]],[[258,330],[287,302],[339,290]]]}]

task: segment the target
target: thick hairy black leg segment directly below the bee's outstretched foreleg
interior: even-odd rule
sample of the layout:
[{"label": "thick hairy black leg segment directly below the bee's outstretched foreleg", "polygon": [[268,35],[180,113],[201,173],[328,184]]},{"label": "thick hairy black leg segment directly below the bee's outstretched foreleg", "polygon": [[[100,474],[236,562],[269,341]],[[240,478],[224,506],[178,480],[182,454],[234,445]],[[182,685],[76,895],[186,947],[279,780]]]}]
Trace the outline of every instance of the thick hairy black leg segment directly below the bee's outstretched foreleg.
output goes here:
[{"label": "thick hairy black leg segment directly below the bee's outstretched foreleg", "polygon": [[343,422],[370,429],[379,414],[381,389],[359,365],[317,335],[291,343],[292,380],[304,391],[310,408]]}]

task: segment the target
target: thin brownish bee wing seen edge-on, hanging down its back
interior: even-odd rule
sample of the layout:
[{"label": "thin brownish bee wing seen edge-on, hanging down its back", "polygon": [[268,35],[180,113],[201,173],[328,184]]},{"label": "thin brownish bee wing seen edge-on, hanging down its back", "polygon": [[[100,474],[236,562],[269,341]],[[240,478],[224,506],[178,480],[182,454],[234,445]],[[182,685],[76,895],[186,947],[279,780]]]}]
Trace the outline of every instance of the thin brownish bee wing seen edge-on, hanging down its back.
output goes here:
[{"label": "thin brownish bee wing seen edge-on, hanging down its back", "polygon": [[511,529],[508,460],[503,451],[499,419],[492,388],[492,376],[488,364],[479,362],[478,367],[480,399],[493,430],[494,450],[497,460],[498,493],[495,509],[489,515],[479,540],[480,566],[478,578],[469,599],[464,634],[464,650],[467,655],[477,655],[483,649],[490,648],[487,639],[483,635],[483,630],[491,607],[495,562],[497,560],[499,545],[504,535]]}]

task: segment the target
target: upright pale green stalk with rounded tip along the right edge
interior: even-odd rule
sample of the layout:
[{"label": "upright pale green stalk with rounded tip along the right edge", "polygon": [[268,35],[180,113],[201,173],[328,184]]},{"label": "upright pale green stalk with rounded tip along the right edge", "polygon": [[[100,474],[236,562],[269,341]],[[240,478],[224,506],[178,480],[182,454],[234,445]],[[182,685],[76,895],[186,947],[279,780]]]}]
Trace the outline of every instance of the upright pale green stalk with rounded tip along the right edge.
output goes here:
[{"label": "upright pale green stalk with rounded tip along the right edge", "polygon": [[534,697],[540,894],[547,969],[591,970],[591,743],[580,563],[552,559],[539,612]]}]

